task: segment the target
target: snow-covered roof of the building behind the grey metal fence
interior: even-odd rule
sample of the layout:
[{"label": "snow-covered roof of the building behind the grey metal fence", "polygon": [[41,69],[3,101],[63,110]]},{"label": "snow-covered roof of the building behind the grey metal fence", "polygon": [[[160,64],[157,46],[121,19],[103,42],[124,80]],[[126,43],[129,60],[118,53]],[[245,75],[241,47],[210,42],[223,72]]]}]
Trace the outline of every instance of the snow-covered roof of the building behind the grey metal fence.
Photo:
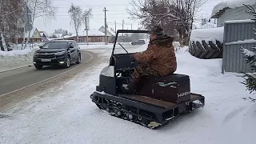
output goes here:
[{"label": "snow-covered roof of the building behind the grey metal fence", "polygon": [[214,6],[211,18],[219,18],[228,9],[234,9],[243,5],[254,5],[255,3],[255,0],[224,0],[224,2],[220,2]]}]

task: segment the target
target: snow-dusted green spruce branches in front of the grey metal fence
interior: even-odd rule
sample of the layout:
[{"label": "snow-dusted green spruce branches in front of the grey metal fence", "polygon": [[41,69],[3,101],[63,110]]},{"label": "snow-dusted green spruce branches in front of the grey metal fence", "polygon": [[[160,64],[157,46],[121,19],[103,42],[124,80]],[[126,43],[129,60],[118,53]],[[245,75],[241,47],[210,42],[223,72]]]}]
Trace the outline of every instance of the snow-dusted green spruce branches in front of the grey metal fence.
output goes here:
[{"label": "snow-dusted green spruce branches in front of the grey metal fence", "polygon": [[[253,19],[256,22],[256,11],[252,6],[246,6],[249,10],[246,11],[247,14],[251,14],[255,17]],[[256,29],[254,28],[254,34],[256,35]],[[256,91],[256,44],[252,47],[252,51],[247,50],[241,46],[242,53],[244,54],[244,58],[246,59],[246,63],[250,64],[250,69],[253,71],[252,73],[244,73],[244,81],[241,82],[246,86],[246,90],[250,91],[250,94]]]}]

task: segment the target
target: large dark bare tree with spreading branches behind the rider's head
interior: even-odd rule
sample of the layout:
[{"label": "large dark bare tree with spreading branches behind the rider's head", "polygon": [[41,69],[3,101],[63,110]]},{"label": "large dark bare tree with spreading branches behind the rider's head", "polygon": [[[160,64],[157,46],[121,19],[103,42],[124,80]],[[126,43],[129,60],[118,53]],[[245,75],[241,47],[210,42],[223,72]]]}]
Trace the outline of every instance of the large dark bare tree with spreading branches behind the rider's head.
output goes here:
[{"label": "large dark bare tree with spreading branches behind the rider's head", "polygon": [[141,19],[149,29],[160,24],[166,34],[188,41],[196,12],[207,0],[132,0],[131,18]]}]

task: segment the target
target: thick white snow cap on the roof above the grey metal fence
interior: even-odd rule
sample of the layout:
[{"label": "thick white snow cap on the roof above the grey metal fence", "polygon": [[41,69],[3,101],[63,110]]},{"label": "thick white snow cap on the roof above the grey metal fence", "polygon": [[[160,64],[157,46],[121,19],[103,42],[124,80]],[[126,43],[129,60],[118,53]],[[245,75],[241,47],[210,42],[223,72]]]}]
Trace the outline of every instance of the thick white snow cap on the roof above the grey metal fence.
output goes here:
[{"label": "thick white snow cap on the roof above the grey metal fence", "polygon": [[243,6],[243,4],[253,5],[255,3],[255,0],[224,0],[224,2],[220,2],[218,3],[218,5],[214,6],[211,15],[213,16],[214,14],[217,14],[220,10],[223,10],[224,8],[234,9],[235,7]]}]

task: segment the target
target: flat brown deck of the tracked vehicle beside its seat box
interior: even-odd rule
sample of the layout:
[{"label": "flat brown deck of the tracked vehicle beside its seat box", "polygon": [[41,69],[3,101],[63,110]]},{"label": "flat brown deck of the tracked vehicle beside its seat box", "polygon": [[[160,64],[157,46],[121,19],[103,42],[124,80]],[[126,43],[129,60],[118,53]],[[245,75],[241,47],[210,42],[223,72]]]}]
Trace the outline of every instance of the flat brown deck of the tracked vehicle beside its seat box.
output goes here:
[{"label": "flat brown deck of the tracked vehicle beside its seat box", "polygon": [[[200,98],[200,95],[198,94],[190,94],[190,100],[196,100],[198,98]],[[149,103],[151,105],[154,105],[154,106],[160,106],[160,107],[163,107],[165,109],[168,109],[172,106],[175,106],[177,104],[175,103],[172,103],[172,102],[165,102],[165,101],[161,101],[161,100],[158,100],[158,99],[155,99],[155,98],[149,98],[149,97],[146,97],[146,96],[142,96],[142,95],[122,95],[122,98],[127,98],[127,99],[131,99],[131,100],[134,100],[134,101],[137,101],[137,102],[144,102],[144,103]]]}]

